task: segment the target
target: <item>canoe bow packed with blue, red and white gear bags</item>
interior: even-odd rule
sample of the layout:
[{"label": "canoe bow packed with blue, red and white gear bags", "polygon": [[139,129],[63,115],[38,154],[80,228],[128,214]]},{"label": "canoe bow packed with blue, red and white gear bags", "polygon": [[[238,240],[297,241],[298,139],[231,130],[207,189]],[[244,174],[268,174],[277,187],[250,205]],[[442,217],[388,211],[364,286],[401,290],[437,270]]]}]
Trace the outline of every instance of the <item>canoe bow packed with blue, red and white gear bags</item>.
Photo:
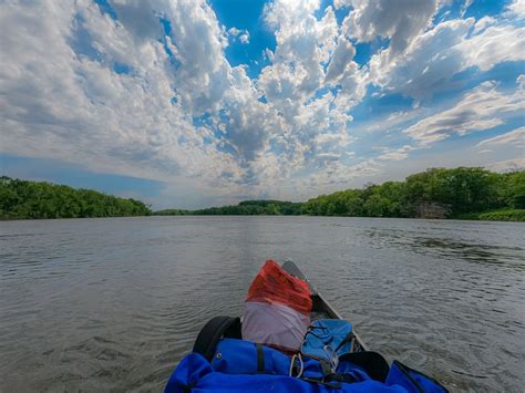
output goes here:
[{"label": "canoe bow packed with blue, red and white gear bags", "polygon": [[269,260],[243,318],[215,317],[172,373],[175,392],[443,393],[439,382],[367,345],[291,261]]}]

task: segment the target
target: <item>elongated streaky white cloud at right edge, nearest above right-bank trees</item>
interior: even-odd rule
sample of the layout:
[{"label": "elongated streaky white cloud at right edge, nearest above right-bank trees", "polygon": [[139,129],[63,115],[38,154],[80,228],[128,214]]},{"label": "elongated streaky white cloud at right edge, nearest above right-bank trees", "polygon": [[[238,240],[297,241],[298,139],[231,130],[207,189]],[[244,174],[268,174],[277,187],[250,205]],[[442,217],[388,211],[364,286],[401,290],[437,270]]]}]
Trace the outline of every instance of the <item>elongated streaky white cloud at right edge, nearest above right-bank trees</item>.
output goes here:
[{"label": "elongated streaky white cloud at right edge, nearest above right-bank trees", "polygon": [[524,89],[513,94],[497,90],[494,82],[484,82],[452,108],[431,115],[404,131],[420,146],[428,146],[450,137],[490,130],[506,123],[507,117],[518,116],[525,110]]}]

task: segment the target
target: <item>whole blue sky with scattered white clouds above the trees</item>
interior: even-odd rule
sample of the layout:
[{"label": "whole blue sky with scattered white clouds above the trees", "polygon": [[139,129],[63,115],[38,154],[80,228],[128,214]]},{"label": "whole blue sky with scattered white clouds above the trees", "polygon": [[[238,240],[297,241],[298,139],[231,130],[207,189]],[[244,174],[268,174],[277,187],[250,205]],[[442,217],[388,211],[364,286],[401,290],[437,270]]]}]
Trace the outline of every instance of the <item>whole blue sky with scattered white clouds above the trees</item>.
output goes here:
[{"label": "whole blue sky with scattered white clouds above the trees", "polygon": [[154,208],[525,167],[525,0],[0,3],[0,174]]}]

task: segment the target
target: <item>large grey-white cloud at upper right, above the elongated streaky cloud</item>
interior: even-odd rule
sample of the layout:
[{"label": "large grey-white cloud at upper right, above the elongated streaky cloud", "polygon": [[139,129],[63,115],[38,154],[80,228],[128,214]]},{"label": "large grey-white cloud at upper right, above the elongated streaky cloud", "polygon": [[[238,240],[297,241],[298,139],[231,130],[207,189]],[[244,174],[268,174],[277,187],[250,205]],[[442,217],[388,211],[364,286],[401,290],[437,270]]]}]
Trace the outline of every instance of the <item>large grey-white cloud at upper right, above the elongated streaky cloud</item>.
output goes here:
[{"label": "large grey-white cloud at upper right, above the elongated streaky cloud", "polygon": [[525,60],[525,28],[493,23],[492,18],[441,22],[397,56],[389,50],[374,54],[367,81],[421,101],[456,86],[453,76],[467,68],[487,71],[501,62]]}]

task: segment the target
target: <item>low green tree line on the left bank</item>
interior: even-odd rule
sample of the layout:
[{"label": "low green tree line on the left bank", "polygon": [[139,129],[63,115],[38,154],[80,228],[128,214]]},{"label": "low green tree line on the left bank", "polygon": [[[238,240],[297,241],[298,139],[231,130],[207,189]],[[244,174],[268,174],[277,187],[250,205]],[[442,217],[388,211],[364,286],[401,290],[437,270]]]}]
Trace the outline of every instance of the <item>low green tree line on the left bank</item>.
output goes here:
[{"label": "low green tree line on the left bank", "polygon": [[141,200],[45,182],[0,177],[1,219],[147,216],[151,213]]}]

